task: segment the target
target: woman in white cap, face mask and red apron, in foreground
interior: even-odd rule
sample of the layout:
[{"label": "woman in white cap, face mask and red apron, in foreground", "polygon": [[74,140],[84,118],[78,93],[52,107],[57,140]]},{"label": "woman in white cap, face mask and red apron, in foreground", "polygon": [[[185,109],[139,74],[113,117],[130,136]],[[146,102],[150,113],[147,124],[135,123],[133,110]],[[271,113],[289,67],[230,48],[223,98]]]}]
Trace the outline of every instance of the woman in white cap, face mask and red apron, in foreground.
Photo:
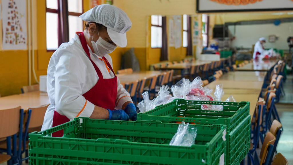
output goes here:
[{"label": "woman in white cap, face mask and red apron, in foreground", "polygon": [[[136,107],[113,71],[109,53],[127,45],[131,21],[112,5],[98,5],[80,16],[85,30],[76,32],[52,55],[47,70],[47,108],[42,130],[75,117],[136,120]],[[63,136],[63,130],[54,132]]]}]

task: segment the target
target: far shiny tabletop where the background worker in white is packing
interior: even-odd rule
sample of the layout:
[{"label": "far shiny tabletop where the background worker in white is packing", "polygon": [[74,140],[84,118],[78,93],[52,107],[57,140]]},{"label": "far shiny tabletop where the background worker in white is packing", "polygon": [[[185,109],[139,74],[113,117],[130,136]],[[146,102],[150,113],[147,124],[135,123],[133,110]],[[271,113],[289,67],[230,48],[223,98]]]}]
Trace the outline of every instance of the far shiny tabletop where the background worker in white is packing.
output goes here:
[{"label": "far shiny tabletop where the background worker in white is packing", "polygon": [[278,60],[253,60],[243,67],[237,68],[238,71],[268,71]]}]

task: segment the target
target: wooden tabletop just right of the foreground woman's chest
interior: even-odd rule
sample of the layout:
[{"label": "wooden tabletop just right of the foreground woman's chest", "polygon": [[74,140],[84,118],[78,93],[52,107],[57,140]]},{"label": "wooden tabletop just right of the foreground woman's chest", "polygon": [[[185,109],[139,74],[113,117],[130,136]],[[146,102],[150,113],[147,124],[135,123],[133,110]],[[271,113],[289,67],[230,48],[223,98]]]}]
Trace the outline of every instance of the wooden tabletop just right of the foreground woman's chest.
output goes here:
[{"label": "wooden tabletop just right of the foreground woman's chest", "polygon": [[132,74],[118,74],[117,77],[119,78],[121,84],[129,84],[136,80],[161,75],[161,73],[161,71],[139,71],[133,72]]}]

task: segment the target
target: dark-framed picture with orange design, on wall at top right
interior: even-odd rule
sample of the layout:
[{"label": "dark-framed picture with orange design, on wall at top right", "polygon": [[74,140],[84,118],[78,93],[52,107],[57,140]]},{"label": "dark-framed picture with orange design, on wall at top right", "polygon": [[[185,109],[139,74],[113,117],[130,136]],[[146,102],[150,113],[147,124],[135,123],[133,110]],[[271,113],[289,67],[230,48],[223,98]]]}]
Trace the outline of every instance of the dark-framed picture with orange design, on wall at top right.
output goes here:
[{"label": "dark-framed picture with orange design, on wall at top right", "polygon": [[292,0],[197,0],[196,2],[197,13],[293,10]]}]

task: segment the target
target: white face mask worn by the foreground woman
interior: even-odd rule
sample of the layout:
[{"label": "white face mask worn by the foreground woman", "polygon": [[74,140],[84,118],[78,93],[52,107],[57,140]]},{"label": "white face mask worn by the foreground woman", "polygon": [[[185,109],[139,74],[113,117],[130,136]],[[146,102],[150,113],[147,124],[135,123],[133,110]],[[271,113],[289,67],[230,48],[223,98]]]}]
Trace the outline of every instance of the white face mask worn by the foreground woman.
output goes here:
[{"label": "white face mask worn by the foreground woman", "polygon": [[93,36],[92,36],[92,45],[93,45],[93,50],[95,51],[95,53],[100,56],[100,57],[104,57],[107,54],[112,53],[117,46],[114,46],[110,43],[108,43],[107,41],[105,41],[102,37],[100,37],[100,34],[98,32],[99,35],[99,39],[97,42],[93,41]]}]

